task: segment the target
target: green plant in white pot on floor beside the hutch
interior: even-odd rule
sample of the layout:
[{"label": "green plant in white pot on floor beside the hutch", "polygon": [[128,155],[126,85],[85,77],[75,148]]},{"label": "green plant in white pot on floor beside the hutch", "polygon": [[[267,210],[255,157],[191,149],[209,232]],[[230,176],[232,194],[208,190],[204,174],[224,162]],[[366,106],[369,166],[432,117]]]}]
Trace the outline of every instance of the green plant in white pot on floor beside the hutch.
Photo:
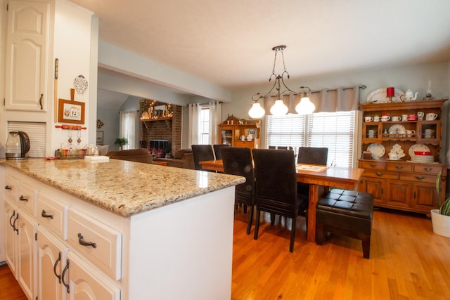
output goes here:
[{"label": "green plant in white pot on floor beside the hutch", "polygon": [[439,188],[440,178],[441,172],[439,172],[436,177],[436,192],[437,199],[439,200],[439,209],[431,210],[431,223],[434,233],[444,237],[450,237],[450,197],[441,204],[441,193]]}]

